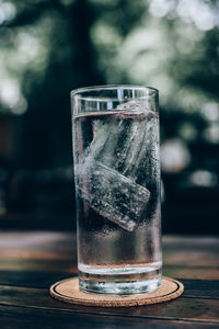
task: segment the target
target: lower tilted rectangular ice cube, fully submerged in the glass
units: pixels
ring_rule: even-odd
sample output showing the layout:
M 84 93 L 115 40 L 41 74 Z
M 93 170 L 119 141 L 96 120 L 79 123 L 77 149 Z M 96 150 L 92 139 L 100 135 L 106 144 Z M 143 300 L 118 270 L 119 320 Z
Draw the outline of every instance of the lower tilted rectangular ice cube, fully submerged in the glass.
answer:
M 103 217 L 128 231 L 136 229 L 150 192 L 99 161 L 81 163 L 77 170 L 82 178 L 79 195 Z

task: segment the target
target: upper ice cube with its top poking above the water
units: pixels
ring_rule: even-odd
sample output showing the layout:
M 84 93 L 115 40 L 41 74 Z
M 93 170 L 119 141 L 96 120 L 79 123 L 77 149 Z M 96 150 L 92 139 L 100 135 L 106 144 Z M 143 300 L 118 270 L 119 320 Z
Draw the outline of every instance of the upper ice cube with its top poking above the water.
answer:
M 129 103 L 123 104 L 124 107 L 127 107 L 127 104 Z M 134 105 L 132 102 L 131 105 Z M 122 105 L 119 109 L 123 109 Z M 136 115 L 136 112 L 130 115 L 130 111 L 127 110 L 117 111 L 107 121 L 99 124 L 99 129 L 95 129 L 94 138 L 85 150 L 85 156 L 135 178 L 138 174 L 137 164 L 146 155 L 150 143 L 148 132 L 151 123 L 158 120 L 157 114 L 143 110 L 145 112 L 141 111 L 140 115 Z

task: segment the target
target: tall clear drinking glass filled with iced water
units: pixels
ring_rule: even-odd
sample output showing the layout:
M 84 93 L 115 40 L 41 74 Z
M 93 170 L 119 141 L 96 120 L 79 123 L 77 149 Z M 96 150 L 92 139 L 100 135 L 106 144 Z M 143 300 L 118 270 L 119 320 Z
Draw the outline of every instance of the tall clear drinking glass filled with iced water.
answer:
M 71 92 L 79 284 L 104 294 L 161 285 L 158 90 Z

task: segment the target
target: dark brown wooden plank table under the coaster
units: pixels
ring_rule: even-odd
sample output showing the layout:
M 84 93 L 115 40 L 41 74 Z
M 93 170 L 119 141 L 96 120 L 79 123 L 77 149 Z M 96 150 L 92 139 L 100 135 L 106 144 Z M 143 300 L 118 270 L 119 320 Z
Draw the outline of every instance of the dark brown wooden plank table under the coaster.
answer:
M 185 293 L 159 305 L 73 306 L 53 299 L 51 283 L 77 273 L 73 234 L 0 234 L 0 328 L 219 328 L 219 239 L 163 238 L 164 274 Z

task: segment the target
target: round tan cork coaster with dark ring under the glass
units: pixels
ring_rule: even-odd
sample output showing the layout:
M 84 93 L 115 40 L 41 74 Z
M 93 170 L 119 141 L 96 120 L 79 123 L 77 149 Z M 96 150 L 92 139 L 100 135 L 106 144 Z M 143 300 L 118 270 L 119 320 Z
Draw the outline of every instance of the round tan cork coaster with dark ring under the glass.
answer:
M 138 306 L 163 303 L 177 298 L 184 292 L 181 282 L 163 276 L 161 286 L 152 293 L 136 295 L 106 295 L 82 292 L 79 279 L 71 277 L 50 286 L 50 295 L 61 302 L 101 307 Z

